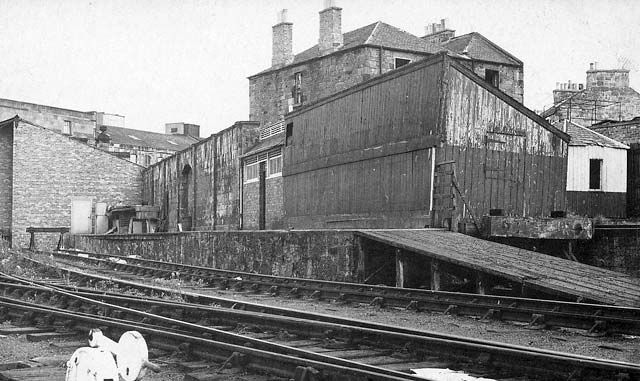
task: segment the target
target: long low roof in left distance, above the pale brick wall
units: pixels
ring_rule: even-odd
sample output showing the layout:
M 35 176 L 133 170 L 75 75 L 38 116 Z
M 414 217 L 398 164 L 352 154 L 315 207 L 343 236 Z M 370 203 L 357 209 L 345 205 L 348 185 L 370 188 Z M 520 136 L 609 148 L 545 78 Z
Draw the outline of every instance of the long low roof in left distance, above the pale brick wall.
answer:
M 111 144 L 126 144 L 169 151 L 182 151 L 191 144 L 200 141 L 187 135 L 167 135 L 123 127 L 107 127 L 106 134 L 111 138 Z

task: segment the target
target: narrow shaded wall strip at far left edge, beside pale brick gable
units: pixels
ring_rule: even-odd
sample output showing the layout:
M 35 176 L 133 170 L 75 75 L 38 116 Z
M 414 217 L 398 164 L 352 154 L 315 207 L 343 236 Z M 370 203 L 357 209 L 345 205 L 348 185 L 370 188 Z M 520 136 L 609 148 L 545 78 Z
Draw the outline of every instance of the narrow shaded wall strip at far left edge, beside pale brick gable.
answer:
M 13 128 L 0 127 L 0 234 L 11 230 Z

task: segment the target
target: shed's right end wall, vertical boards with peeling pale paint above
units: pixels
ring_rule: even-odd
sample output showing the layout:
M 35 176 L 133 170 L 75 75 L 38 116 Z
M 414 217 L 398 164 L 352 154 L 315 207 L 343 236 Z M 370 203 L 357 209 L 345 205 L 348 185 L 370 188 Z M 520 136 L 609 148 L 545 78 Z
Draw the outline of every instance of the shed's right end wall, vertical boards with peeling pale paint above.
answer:
M 436 156 L 436 172 L 452 176 L 460 192 L 436 189 L 457 198 L 436 209 L 451 209 L 457 218 L 478 218 L 490 209 L 524 217 L 564 210 L 563 133 L 464 71 L 453 64 L 447 70 L 446 144 Z M 439 170 L 441 163 L 450 163 L 446 171 Z

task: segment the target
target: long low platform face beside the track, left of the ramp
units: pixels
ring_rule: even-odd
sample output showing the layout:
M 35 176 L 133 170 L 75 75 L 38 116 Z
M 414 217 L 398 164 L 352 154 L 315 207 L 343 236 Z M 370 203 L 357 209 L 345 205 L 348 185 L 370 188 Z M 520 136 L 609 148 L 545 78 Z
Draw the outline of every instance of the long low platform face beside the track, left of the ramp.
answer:
M 363 257 L 352 231 L 226 231 L 76 235 L 79 250 L 277 276 L 357 282 Z

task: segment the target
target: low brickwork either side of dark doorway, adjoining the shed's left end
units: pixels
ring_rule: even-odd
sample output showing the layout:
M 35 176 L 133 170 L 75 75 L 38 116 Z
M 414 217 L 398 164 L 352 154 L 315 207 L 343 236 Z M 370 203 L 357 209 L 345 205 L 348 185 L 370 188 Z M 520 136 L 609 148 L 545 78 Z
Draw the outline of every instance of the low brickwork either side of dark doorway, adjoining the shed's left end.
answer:
M 281 229 L 284 226 L 284 198 L 282 176 L 266 179 L 265 228 Z M 256 230 L 259 226 L 260 183 L 246 183 L 242 189 L 242 228 Z

